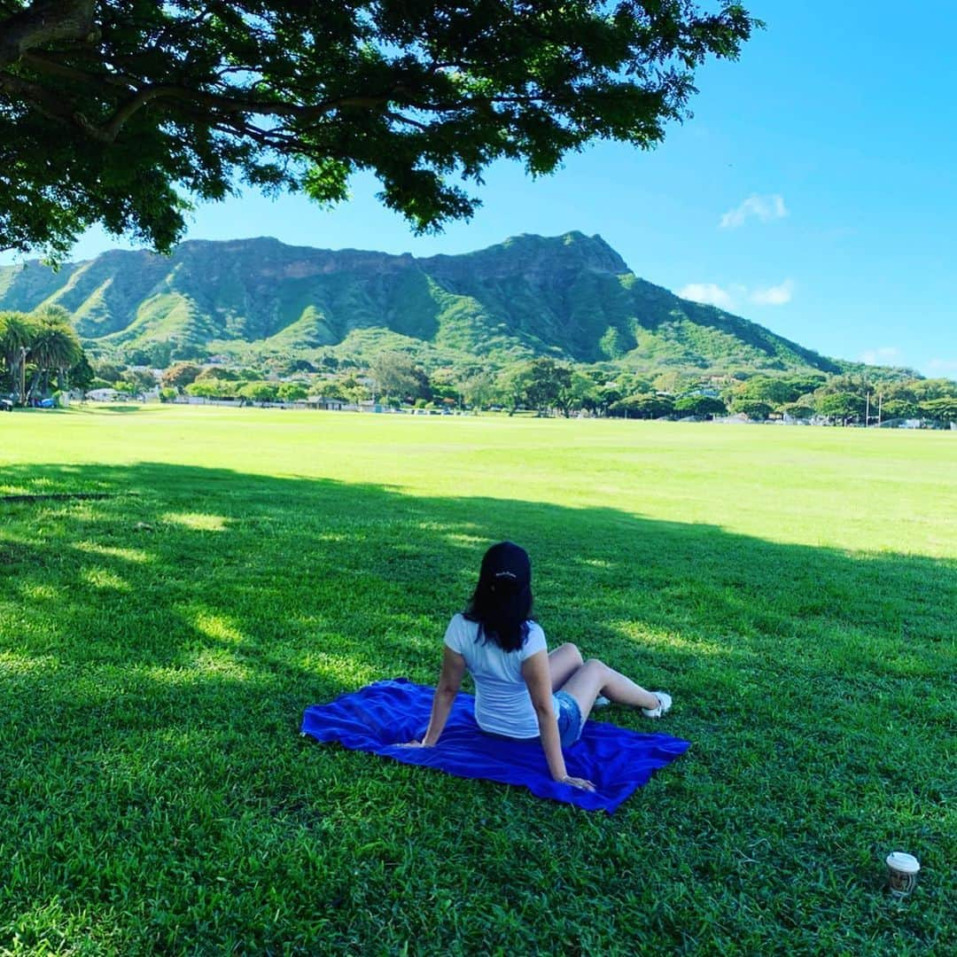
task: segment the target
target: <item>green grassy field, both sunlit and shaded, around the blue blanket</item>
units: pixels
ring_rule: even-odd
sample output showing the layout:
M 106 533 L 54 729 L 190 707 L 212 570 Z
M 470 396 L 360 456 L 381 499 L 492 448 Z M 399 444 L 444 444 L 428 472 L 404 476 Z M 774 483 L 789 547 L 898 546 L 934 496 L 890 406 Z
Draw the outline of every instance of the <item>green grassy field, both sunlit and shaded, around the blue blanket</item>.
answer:
M 957 950 L 957 435 L 118 407 L 0 442 L 0 953 Z M 614 815 L 297 733 L 433 683 L 501 538 L 552 645 L 675 697 L 691 750 Z

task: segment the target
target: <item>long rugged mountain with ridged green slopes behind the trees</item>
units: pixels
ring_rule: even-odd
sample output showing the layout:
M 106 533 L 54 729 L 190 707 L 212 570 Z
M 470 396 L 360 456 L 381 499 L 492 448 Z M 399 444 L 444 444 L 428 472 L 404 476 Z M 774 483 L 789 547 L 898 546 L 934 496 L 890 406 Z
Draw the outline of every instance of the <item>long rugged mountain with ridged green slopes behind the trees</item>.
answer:
M 59 272 L 0 269 L 0 308 L 58 303 L 87 345 L 175 357 L 374 351 L 395 336 L 441 361 L 549 355 L 628 366 L 837 364 L 714 306 L 637 278 L 600 236 L 521 235 L 461 256 L 389 256 L 276 239 L 114 251 Z M 389 335 L 387 335 L 389 333 Z

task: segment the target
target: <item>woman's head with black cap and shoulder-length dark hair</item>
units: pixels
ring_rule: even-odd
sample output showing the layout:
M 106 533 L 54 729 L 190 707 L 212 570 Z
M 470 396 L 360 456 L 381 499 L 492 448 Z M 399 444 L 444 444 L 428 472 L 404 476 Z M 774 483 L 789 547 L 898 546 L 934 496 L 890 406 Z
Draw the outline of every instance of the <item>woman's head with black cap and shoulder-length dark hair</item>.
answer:
M 518 651 L 528 637 L 532 611 L 531 563 L 523 548 L 511 542 L 485 552 L 479 584 L 463 616 L 479 622 L 479 638 L 503 652 Z

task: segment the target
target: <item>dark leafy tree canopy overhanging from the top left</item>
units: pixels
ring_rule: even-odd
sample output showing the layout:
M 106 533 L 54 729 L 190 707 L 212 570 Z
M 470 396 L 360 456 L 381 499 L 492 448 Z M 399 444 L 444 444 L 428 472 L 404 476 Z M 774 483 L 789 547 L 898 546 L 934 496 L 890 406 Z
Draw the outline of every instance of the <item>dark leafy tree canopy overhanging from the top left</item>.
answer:
M 656 145 L 757 26 L 731 0 L 3 3 L 0 247 L 62 256 L 100 223 L 164 251 L 192 199 L 334 203 L 357 170 L 434 230 L 495 160 Z

